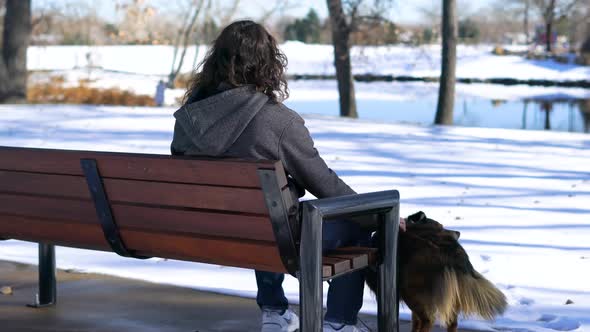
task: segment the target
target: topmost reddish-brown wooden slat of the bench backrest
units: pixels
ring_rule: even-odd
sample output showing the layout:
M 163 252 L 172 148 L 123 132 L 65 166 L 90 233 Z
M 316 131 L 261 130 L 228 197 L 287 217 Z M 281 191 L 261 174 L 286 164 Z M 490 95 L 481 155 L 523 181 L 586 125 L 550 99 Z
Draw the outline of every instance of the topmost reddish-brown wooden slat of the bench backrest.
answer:
M 96 159 L 108 178 L 260 188 L 258 169 L 284 172 L 280 162 L 167 155 L 0 147 L 0 170 L 83 175 L 80 159 Z M 280 177 L 279 185 L 287 184 Z

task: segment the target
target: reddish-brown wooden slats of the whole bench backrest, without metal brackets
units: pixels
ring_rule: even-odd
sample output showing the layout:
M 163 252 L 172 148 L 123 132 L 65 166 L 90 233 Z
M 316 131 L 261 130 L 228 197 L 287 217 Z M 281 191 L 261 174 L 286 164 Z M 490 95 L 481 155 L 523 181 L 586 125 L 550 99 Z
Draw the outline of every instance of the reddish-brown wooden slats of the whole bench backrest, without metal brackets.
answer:
M 80 159 L 96 160 L 130 250 L 285 271 L 258 174 L 287 194 L 273 161 L 0 147 L 0 237 L 110 250 Z

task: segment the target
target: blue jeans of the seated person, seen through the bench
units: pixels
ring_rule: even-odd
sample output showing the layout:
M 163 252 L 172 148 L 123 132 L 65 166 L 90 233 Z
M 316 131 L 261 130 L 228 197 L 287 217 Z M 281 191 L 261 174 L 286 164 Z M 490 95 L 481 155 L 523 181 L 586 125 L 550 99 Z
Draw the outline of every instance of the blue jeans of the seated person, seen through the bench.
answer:
M 328 221 L 323 224 L 322 246 L 324 250 L 343 246 L 370 246 L 370 232 L 358 224 L 345 220 Z M 289 303 L 283 291 L 282 273 L 256 271 L 260 308 L 286 310 Z M 325 320 L 334 323 L 355 325 L 363 306 L 365 288 L 364 270 L 332 279 L 328 289 L 328 310 Z

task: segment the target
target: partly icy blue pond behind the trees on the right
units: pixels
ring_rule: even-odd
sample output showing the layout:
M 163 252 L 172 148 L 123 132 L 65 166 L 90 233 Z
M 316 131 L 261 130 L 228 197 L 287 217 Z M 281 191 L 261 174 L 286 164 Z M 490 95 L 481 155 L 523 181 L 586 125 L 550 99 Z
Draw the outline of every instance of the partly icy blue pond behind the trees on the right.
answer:
M 285 104 L 302 114 L 337 116 L 335 81 L 292 81 Z M 433 123 L 438 85 L 433 83 L 356 83 L 359 118 Z M 454 124 L 470 127 L 590 131 L 590 90 L 457 84 Z

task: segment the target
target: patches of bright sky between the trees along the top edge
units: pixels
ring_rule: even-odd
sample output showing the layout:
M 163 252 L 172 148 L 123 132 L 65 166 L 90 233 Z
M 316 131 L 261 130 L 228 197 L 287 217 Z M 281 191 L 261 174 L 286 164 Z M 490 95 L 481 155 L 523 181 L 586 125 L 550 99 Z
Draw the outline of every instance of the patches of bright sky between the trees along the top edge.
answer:
M 76 3 L 90 3 L 92 6 L 98 9 L 98 13 L 100 16 L 114 20 L 116 17 L 115 12 L 115 4 L 118 2 L 117 0 L 101 0 L 101 1 L 94 1 L 94 0 L 53 0 L 57 3 L 68 4 L 68 5 L 75 5 Z M 175 0 L 146 0 L 148 3 L 152 3 L 156 8 L 166 11 L 166 9 L 173 6 Z M 231 0 L 218 0 L 221 3 L 230 3 Z M 477 9 L 478 7 L 483 7 L 490 4 L 493 0 L 472 0 L 469 1 L 469 10 Z M 43 6 L 43 4 L 48 3 L 51 1 L 47 0 L 33 0 L 34 6 Z M 120 2 L 120 1 L 119 1 Z M 242 0 L 241 8 L 243 8 L 243 12 L 240 15 L 241 17 L 251 17 L 256 18 L 262 12 L 264 12 L 264 8 L 268 8 L 270 1 L 268 0 Z M 394 1 L 394 5 L 392 7 L 390 17 L 394 21 L 401 22 L 401 23 L 411 23 L 420 21 L 423 17 L 420 11 L 420 8 L 432 8 L 436 4 L 439 4 L 442 0 L 397 0 Z M 314 8 L 322 17 L 327 15 L 327 8 L 325 0 L 295 0 L 293 3 L 297 3 L 297 8 L 289 10 L 288 14 L 291 16 L 303 16 L 307 13 L 310 8 Z M 461 10 L 462 5 L 459 6 L 459 10 Z

